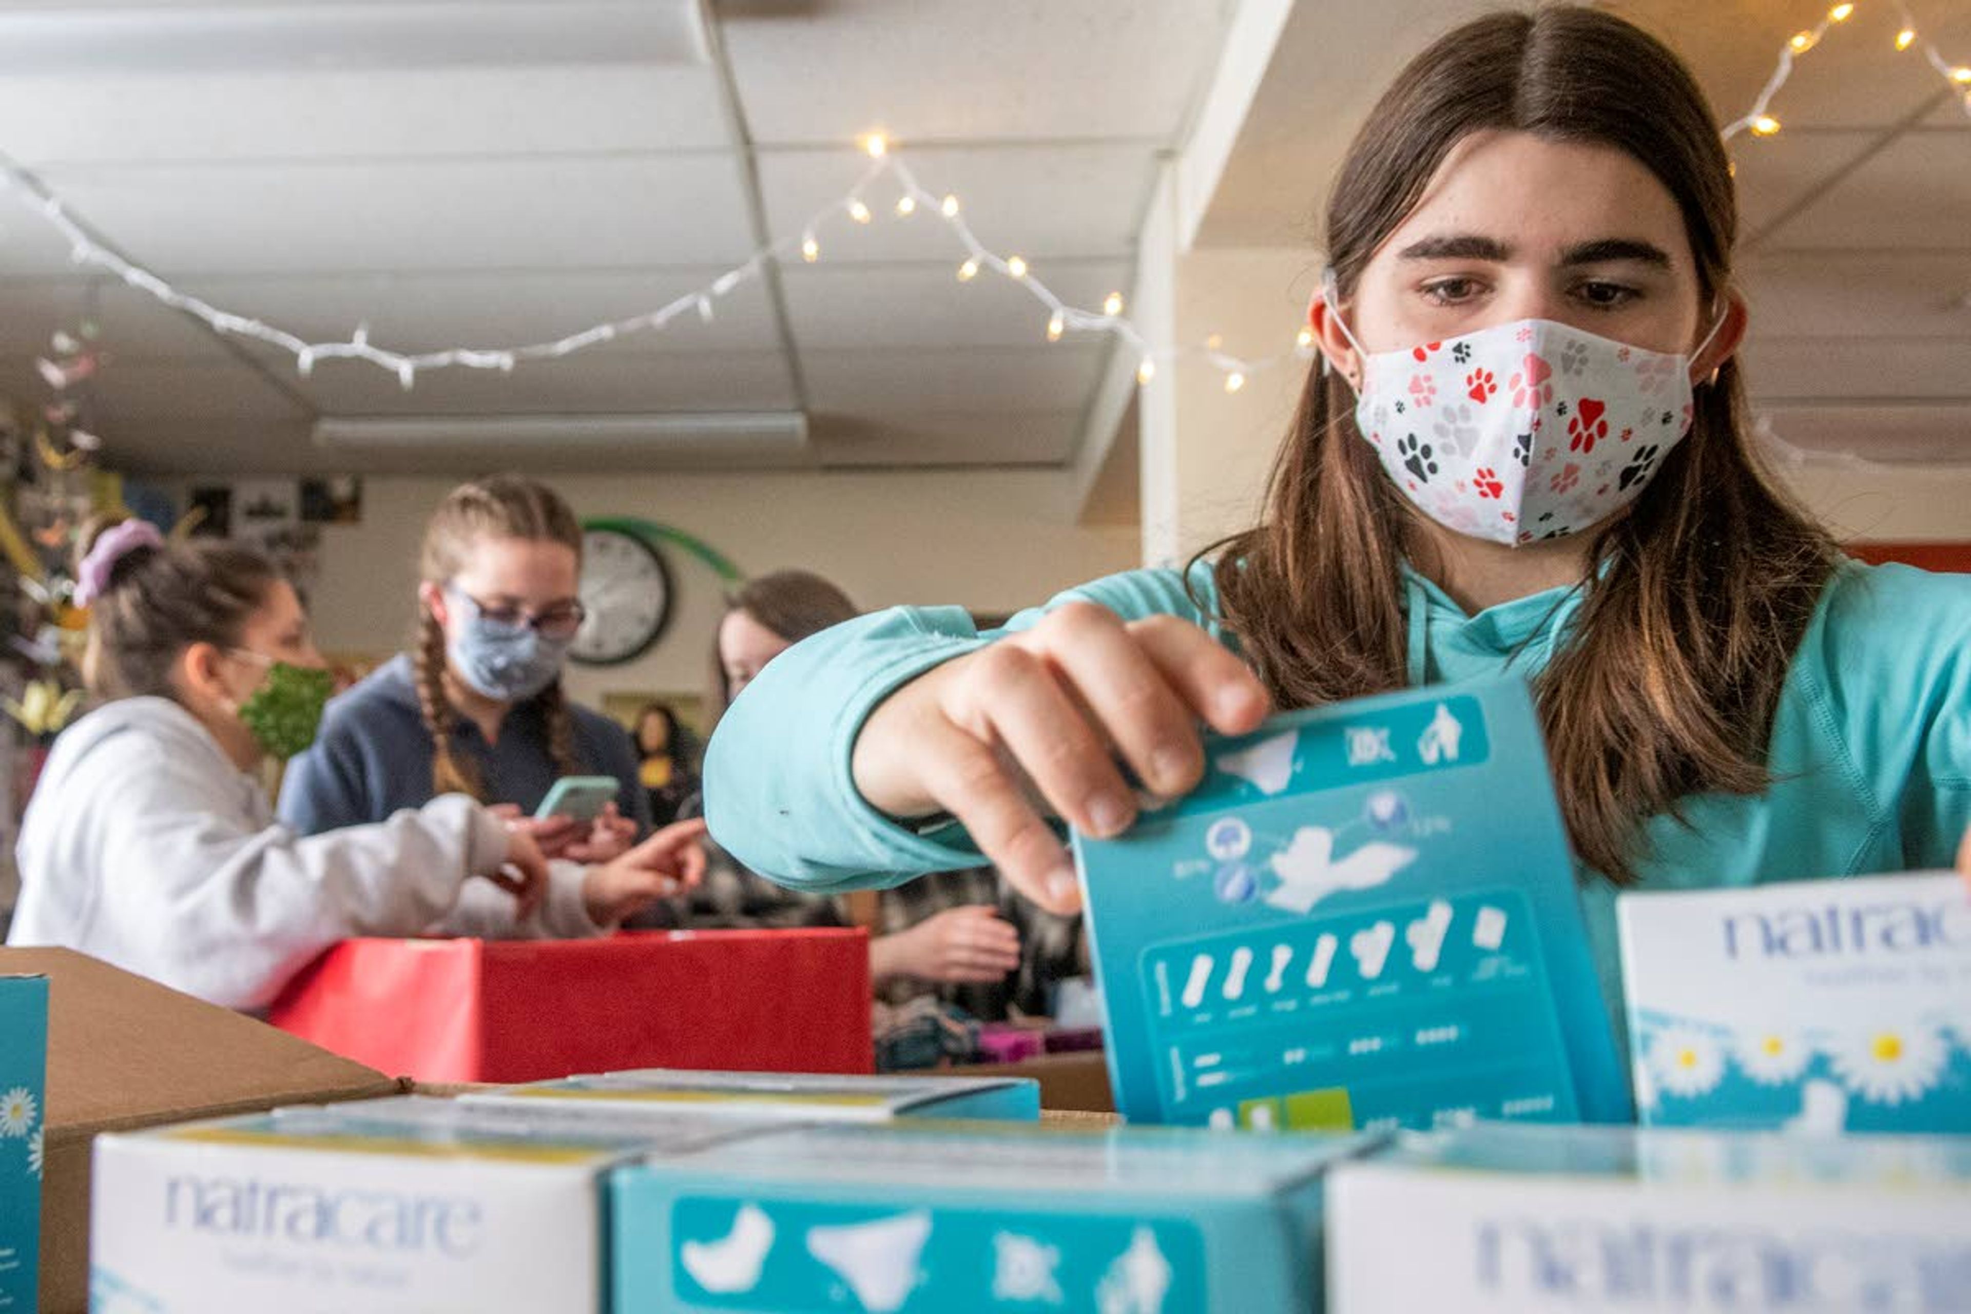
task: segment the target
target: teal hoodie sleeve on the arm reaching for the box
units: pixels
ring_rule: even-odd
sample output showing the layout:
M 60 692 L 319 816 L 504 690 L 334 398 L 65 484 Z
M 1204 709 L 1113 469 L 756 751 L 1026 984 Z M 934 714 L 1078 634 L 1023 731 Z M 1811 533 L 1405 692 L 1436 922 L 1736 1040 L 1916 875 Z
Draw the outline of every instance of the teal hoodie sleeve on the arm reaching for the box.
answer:
M 1192 597 L 1196 593 L 1196 597 Z M 1056 595 L 1005 628 L 980 632 L 960 607 L 893 607 L 806 638 L 745 688 L 706 749 L 706 823 L 733 857 L 781 885 L 836 892 L 887 888 L 986 859 L 956 825 L 920 833 L 871 808 L 850 755 L 869 713 L 932 666 L 1090 601 L 1123 621 L 1175 615 L 1210 624 L 1208 565 L 1127 571 Z

